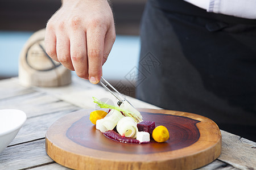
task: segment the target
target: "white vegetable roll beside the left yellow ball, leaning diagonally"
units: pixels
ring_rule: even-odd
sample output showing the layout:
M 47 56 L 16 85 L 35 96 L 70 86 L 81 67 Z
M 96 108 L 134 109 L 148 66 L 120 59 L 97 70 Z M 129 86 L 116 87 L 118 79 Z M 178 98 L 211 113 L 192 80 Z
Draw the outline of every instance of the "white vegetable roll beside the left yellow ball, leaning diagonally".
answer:
M 123 118 L 123 114 L 119 111 L 112 109 L 104 118 L 96 121 L 96 129 L 102 133 L 108 130 L 113 130 L 117 122 Z

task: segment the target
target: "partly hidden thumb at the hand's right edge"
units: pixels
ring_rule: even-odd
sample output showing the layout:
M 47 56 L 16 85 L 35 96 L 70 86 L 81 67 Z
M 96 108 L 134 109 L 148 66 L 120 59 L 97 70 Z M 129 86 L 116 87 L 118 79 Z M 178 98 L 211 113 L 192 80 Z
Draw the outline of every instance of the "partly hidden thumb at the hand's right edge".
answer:
M 112 49 L 114 42 L 115 42 L 115 29 L 113 27 L 109 29 L 109 31 L 106 33 L 106 36 L 105 36 L 102 65 L 104 65 L 104 63 L 108 59 L 109 53 Z

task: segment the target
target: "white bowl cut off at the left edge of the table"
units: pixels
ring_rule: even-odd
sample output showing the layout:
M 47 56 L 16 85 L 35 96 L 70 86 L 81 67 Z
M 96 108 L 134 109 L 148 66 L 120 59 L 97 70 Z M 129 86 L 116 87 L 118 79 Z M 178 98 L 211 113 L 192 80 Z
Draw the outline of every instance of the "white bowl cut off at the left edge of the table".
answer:
M 13 141 L 26 120 L 26 114 L 20 110 L 0 110 L 0 153 Z

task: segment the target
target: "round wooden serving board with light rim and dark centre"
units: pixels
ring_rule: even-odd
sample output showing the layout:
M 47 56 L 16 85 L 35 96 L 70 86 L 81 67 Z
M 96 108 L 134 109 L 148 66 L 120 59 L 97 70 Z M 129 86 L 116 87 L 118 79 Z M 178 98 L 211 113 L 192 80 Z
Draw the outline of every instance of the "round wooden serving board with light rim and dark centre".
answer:
M 120 143 L 105 137 L 89 120 L 93 110 L 69 113 L 46 133 L 46 151 L 73 169 L 195 169 L 217 159 L 221 133 L 209 118 L 186 112 L 139 109 L 143 120 L 166 126 L 164 143 Z

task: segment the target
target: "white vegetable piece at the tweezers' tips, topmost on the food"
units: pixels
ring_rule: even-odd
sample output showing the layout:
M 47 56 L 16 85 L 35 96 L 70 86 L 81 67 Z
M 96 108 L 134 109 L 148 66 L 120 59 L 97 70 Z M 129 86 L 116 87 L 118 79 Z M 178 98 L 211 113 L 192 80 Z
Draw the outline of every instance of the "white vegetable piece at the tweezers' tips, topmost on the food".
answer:
M 123 101 L 123 103 L 120 105 L 120 108 L 130 112 L 124 112 L 125 116 L 130 116 L 137 123 L 142 122 L 141 113 L 137 111 L 137 109 L 135 109 L 133 106 L 131 106 L 127 101 Z

